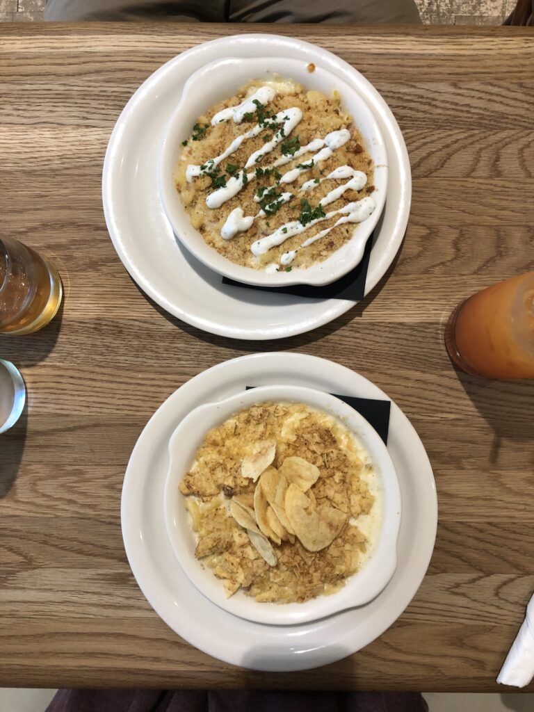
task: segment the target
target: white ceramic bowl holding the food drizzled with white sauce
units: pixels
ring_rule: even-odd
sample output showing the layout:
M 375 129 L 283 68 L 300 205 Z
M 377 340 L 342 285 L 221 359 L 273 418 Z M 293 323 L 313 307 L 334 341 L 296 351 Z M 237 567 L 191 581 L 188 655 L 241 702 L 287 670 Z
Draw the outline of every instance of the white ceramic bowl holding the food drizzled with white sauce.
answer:
M 311 60 L 313 57 L 310 57 Z M 317 61 L 313 73 L 308 72 L 307 67 L 308 62 L 283 57 L 226 58 L 211 62 L 189 77 L 177 108 L 167 125 L 157 171 L 159 196 L 165 214 L 174 234 L 197 259 L 219 274 L 236 281 L 261 286 L 329 284 L 360 263 L 367 237 L 375 228 L 384 207 L 387 190 L 387 152 L 375 116 L 360 95 L 345 81 L 324 68 L 320 61 Z M 274 75 L 293 79 L 307 89 L 320 90 L 326 95 L 330 95 L 333 89 L 340 92 L 342 106 L 352 115 L 355 126 L 360 130 L 375 164 L 376 189 L 372 197 L 377 206 L 367 220 L 355 226 L 352 239 L 325 261 L 308 269 L 294 267 L 290 272 L 281 270 L 266 273 L 236 265 L 204 242 L 199 231 L 194 229 L 189 221 L 189 216 L 174 186 L 173 175 L 182 152 L 182 141 L 191 135 L 192 126 L 199 115 L 219 101 L 233 96 L 250 80 L 269 79 Z

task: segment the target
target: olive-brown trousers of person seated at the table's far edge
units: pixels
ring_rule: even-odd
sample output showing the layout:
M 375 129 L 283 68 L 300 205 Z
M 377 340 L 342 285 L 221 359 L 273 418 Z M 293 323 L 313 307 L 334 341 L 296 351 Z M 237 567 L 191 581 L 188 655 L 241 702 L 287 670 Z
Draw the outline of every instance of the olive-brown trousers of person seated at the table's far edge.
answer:
M 414 0 L 47 0 L 53 22 L 421 23 Z

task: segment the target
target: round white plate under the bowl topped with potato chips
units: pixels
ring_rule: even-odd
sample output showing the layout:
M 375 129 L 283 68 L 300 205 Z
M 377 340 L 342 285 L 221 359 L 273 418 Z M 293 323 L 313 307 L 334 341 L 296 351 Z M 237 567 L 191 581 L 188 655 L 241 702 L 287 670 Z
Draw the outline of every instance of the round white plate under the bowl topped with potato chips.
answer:
M 174 556 L 163 516 L 168 445 L 179 422 L 197 406 L 246 386 L 291 384 L 326 392 L 387 399 L 377 386 L 333 362 L 304 354 L 253 354 L 197 375 L 157 409 L 130 456 L 122 488 L 122 538 L 140 589 L 164 622 L 200 650 L 225 662 L 264 671 L 326 665 L 360 650 L 399 617 L 429 565 L 437 526 L 434 476 L 424 446 L 392 402 L 387 449 L 397 470 L 402 520 L 399 562 L 387 587 L 369 604 L 320 621 L 269 626 L 233 616 L 198 590 Z

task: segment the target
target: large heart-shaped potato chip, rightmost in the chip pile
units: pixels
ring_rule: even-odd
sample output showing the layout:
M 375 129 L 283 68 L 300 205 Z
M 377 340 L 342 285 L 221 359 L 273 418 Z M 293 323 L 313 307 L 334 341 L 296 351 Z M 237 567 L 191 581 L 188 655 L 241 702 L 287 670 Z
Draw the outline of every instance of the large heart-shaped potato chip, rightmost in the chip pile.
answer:
M 286 492 L 286 514 L 295 535 L 308 551 L 325 549 L 347 521 L 347 515 L 330 504 L 316 506 L 295 483 Z

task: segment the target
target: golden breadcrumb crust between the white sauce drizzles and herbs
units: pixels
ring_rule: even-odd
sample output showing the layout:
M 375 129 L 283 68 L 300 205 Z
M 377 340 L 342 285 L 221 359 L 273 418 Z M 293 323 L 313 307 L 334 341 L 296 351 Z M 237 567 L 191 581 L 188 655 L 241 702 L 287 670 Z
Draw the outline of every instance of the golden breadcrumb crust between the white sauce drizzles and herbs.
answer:
M 276 178 L 271 176 L 268 178 L 262 177 L 253 179 L 239 194 L 229 201 L 226 201 L 220 208 L 209 209 L 206 206 L 206 196 L 211 192 L 211 179 L 204 175 L 195 178 L 189 183 L 186 178 L 186 169 L 188 164 L 205 164 L 210 158 L 220 155 L 237 136 L 251 129 L 251 127 L 256 124 L 256 120 L 242 122 L 241 124 L 226 121 L 212 127 L 210 121 L 211 117 L 221 109 L 241 103 L 241 101 L 244 100 L 247 95 L 250 95 L 254 88 L 258 88 L 259 85 L 261 85 L 261 82 L 258 81 L 249 83 L 241 88 L 236 96 L 215 105 L 206 112 L 206 115 L 199 117 L 199 124 L 208 125 L 208 128 L 206 132 L 199 137 L 199 140 L 189 140 L 187 147 L 185 147 L 182 152 L 174 175 L 177 190 L 184 202 L 192 225 L 199 230 L 206 244 L 216 249 L 219 254 L 231 262 L 256 269 L 264 268 L 268 263 L 279 263 L 280 257 L 284 252 L 298 248 L 303 242 L 303 239 L 307 239 L 317 234 L 320 230 L 333 226 L 337 217 L 339 217 L 336 216 L 328 221 L 322 221 L 320 224 L 305 231 L 305 238 L 303 238 L 302 235 L 293 236 L 281 246 L 269 250 L 268 253 L 261 256 L 261 258 L 256 258 L 251 252 L 251 244 L 257 239 L 273 233 L 273 231 L 284 223 L 297 219 L 300 213 L 301 198 L 307 199 L 310 204 L 315 207 L 329 190 L 340 184 L 339 182 L 328 180 L 318 185 L 318 187 L 311 192 L 298 192 L 298 189 L 303 183 L 311 179 L 324 178 L 333 169 L 341 165 L 349 165 L 367 174 L 367 185 L 372 186 L 373 181 L 372 161 L 367 150 L 363 147 L 364 141 L 362 140 L 362 136 L 354 127 L 352 117 L 342 110 L 340 97 L 337 92 L 333 92 L 333 95 L 326 97 L 318 91 L 306 91 L 300 87 L 300 85 L 295 84 L 293 93 L 277 94 L 273 102 L 268 105 L 268 110 L 273 113 L 292 107 L 298 107 L 303 110 L 303 120 L 295 127 L 290 135 L 291 137 L 298 136 L 301 146 L 306 145 L 315 138 L 324 137 L 330 131 L 343 128 L 348 128 L 352 137 L 347 144 L 335 151 L 333 157 L 320 162 L 320 164 L 313 167 L 313 169 L 301 174 L 294 183 L 285 184 L 281 187 L 283 191 L 295 194 L 295 198 L 284 205 L 275 215 L 258 218 L 248 231 L 238 233 L 231 240 L 224 240 L 221 237 L 221 228 L 229 213 L 233 209 L 241 207 L 244 209 L 245 215 L 255 215 L 258 212 L 259 206 L 258 203 L 253 200 L 254 194 L 261 186 L 276 186 Z M 226 173 L 228 164 L 236 165 L 239 167 L 239 171 L 241 171 L 248 156 L 263 146 L 263 137 L 272 135 L 273 131 L 266 129 L 257 137 L 246 140 L 234 154 L 224 159 L 221 163 L 221 174 L 226 174 L 226 178 L 229 178 L 229 174 Z M 278 170 L 284 173 L 294 168 L 298 163 L 307 162 L 311 155 L 311 153 L 302 155 L 290 163 L 283 165 L 283 167 L 280 167 Z M 258 163 L 258 167 L 268 167 L 280 156 L 281 148 L 277 147 L 271 154 Z M 249 168 L 248 172 L 253 172 L 253 169 Z M 359 200 L 367 194 L 368 190 L 365 187 L 360 192 L 349 190 L 345 193 L 344 197 L 329 204 L 328 210 L 340 209 L 347 204 L 347 202 Z M 337 226 L 325 239 L 320 239 L 315 244 L 300 250 L 293 262 L 293 266 L 306 268 L 323 261 L 352 237 L 354 229 L 355 226 L 353 224 Z

